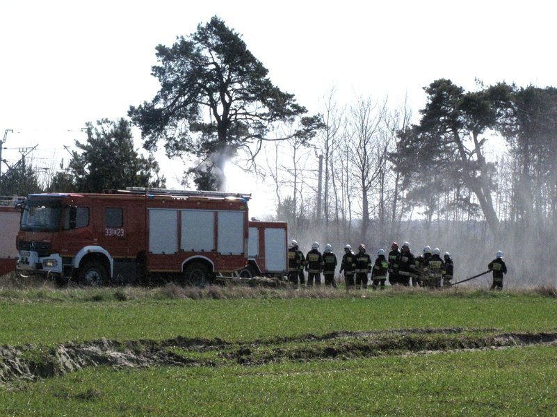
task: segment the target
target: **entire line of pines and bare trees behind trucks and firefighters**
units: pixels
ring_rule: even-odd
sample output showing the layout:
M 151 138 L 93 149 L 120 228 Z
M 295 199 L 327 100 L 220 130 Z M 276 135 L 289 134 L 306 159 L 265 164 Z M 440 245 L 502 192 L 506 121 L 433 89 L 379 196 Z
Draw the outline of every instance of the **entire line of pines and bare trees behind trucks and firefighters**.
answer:
M 322 113 L 307 115 L 216 16 L 156 47 L 156 57 L 161 89 L 130 106 L 131 122 L 87 124 L 67 170 L 41 184 L 22 163 L 0 179 L 0 194 L 164 186 L 154 158 L 134 149 L 133 123 L 147 151 L 162 142 L 168 156 L 193 164 L 184 183 L 222 190 L 228 160 L 266 177 L 275 218 L 302 244 L 410 240 L 414 250 L 457 252 L 461 264 L 487 264 L 502 249 L 519 260 L 517 279 L 555 284 L 549 266 L 540 270 L 540 246 L 557 243 L 555 88 L 478 81 L 466 91 L 438 79 L 424 88 L 417 122 L 407 104 L 340 105 L 332 90 Z M 10 188 L 21 179 L 29 181 Z

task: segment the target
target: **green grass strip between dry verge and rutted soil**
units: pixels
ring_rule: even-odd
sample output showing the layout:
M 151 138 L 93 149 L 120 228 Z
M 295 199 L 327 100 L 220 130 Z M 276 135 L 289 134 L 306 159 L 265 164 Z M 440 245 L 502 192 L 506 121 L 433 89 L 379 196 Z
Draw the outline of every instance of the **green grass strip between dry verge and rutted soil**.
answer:
M 84 294 L 87 291 L 95 293 L 83 290 Z M 53 291 L 58 295 L 49 297 L 4 297 L 0 343 L 54 345 L 103 337 L 124 341 L 175 336 L 239 341 L 414 327 L 557 330 L 557 299 L 537 293 L 367 291 L 327 297 L 323 291 L 317 298 L 158 300 L 149 295 L 113 301 L 108 291 L 102 297 L 67 297 L 64 291 Z

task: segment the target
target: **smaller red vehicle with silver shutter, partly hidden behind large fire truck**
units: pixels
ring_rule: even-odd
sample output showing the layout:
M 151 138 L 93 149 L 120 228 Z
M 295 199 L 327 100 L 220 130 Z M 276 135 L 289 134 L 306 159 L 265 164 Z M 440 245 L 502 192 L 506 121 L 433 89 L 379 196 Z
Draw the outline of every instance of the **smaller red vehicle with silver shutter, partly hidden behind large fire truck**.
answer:
M 249 222 L 248 267 L 243 277 L 284 277 L 288 271 L 288 223 Z

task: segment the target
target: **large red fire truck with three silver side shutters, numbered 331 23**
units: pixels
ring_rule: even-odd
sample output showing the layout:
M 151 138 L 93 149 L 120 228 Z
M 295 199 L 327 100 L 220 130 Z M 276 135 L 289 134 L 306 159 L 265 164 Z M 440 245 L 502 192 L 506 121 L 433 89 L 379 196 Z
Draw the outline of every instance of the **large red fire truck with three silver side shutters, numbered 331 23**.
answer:
M 29 195 L 17 272 L 86 285 L 156 275 L 202 285 L 247 264 L 249 199 L 161 188 Z

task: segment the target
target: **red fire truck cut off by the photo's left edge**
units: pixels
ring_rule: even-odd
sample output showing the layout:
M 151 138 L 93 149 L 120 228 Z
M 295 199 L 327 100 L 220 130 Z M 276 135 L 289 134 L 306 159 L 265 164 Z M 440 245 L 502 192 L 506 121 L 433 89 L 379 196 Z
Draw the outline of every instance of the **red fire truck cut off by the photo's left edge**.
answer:
M 2 203 L 5 201 L 2 200 Z M 17 249 L 15 247 L 15 236 L 19 229 L 19 210 L 15 208 L 15 201 L 6 201 L 0 205 L 0 277 L 13 272 L 17 261 Z

